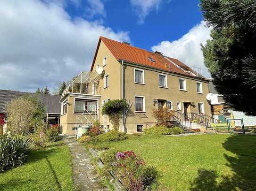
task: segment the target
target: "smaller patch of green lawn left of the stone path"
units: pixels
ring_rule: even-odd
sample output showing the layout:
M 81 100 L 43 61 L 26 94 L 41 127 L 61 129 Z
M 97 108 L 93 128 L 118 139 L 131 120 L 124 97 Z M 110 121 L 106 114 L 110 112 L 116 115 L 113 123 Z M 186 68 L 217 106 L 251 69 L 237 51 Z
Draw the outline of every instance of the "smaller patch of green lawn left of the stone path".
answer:
M 45 150 L 33 150 L 25 165 L 0 174 L 0 190 L 72 191 L 71 158 L 67 145 L 57 142 Z

